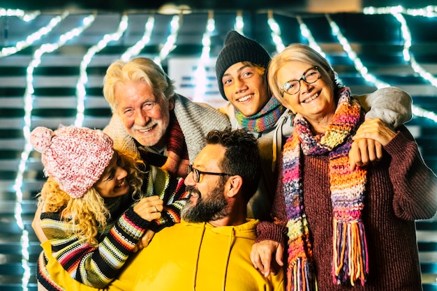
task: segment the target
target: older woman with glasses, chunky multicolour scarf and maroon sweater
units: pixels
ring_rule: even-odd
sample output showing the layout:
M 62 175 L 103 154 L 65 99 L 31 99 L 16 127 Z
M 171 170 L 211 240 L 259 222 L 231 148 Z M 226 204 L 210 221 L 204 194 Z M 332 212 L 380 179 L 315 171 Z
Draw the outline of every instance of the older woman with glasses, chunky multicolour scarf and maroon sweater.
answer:
M 296 114 L 295 130 L 281 153 L 274 223 L 258 225 L 253 265 L 267 275 L 285 257 L 288 290 L 421 290 L 415 220 L 436 213 L 437 178 L 413 136 L 364 121 L 350 89 L 306 45 L 277 54 L 268 80 Z M 350 165 L 360 138 L 380 144 L 379 161 Z

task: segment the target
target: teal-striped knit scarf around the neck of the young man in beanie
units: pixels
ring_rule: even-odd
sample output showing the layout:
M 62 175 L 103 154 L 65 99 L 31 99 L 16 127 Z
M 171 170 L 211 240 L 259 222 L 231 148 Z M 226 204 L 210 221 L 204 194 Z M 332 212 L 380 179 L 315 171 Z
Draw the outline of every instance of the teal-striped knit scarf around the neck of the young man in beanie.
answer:
M 279 117 L 281 117 L 286 110 L 287 108 L 283 107 L 281 103 L 272 96 L 269 102 L 267 102 L 267 104 L 262 107 L 257 114 L 246 117 L 241 111 L 235 109 L 235 118 L 243 128 L 246 128 L 246 130 L 255 133 L 262 133 L 265 130 L 273 128 L 279 120 Z

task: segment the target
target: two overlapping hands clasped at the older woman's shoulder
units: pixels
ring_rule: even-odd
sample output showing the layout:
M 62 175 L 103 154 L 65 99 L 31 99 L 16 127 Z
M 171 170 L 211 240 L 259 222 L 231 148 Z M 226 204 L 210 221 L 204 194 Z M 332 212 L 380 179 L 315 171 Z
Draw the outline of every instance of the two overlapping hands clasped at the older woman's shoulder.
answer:
M 349 151 L 350 170 L 383 158 L 383 147 L 396 133 L 380 119 L 367 119 L 358 128 Z

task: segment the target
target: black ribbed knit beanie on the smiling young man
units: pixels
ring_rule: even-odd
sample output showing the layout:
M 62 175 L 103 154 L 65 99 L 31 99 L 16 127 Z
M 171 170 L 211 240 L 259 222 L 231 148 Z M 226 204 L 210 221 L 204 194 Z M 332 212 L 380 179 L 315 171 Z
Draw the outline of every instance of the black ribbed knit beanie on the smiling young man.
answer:
M 226 70 L 240 61 L 250 61 L 252 64 L 267 68 L 270 62 L 269 53 L 255 40 L 251 40 L 239 34 L 237 31 L 229 31 L 223 43 L 223 49 L 218 54 L 216 61 L 216 76 L 218 90 L 221 96 L 228 100 L 223 91 L 221 78 Z

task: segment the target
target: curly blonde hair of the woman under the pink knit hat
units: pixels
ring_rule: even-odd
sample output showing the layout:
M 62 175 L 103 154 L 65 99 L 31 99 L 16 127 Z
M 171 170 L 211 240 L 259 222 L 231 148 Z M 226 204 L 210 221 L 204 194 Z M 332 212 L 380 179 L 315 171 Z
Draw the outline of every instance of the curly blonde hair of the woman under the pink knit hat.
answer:
M 128 154 L 117 151 L 124 161 L 124 169 L 128 172 L 128 183 L 131 186 L 133 200 L 142 198 L 142 170 L 144 163 L 135 160 Z M 97 246 L 99 231 L 105 229 L 110 218 L 110 211 L 105 200 L 92 186 L 80 198 L 73 198 L 61 190 L 57 181 L 49 177 L 45 181 L 38 196 L 38 203 L 43 203 L 43 212 L 61 211 L 61 219 L 72 227 L 67 233 L 75 234 L 86 240 L 91 246 Z

